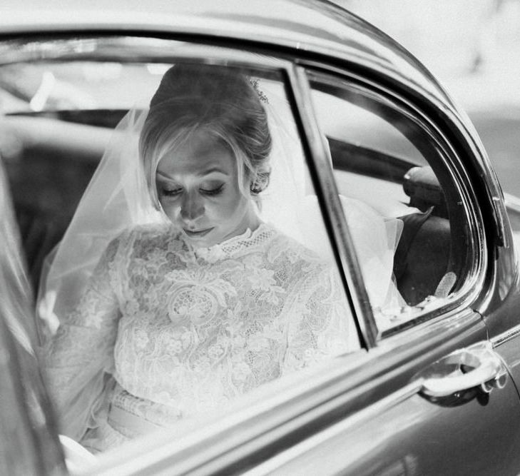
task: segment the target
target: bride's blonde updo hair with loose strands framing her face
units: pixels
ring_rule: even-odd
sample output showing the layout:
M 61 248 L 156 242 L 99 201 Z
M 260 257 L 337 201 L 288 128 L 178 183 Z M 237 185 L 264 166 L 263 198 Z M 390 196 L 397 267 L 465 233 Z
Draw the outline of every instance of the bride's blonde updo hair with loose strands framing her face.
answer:
M 253 196 L 269 184 L 272 139 L 267 114 L 248 78 L 225 66 L 176 64 L 166 71 L 153 95 L 139 149 L 151 198 L 160 208 L 156 188 L 158 163 L 196 131 L 227 146 L 237 159 L 240 190 Z M 247 174 L 250 190 L 240 177 Z

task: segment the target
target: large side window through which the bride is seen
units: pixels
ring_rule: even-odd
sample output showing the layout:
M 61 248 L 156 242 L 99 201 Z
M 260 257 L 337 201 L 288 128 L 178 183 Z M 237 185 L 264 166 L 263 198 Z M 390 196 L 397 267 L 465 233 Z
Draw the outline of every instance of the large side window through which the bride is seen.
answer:
M 0 77 L 21 101 L 0 150 L 61 432 L 108 450 L 360 349 L 282 74 L 192 59 Z

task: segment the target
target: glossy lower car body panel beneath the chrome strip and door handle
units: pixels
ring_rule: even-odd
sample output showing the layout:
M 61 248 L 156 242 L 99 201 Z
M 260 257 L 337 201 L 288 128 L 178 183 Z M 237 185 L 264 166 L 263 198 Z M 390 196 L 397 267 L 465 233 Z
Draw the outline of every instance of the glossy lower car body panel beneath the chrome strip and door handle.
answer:
M 368 407 L 366 414 L 360 412 L 315 435 L 255 474 L 295 474 L 302 467 L 320 475 L 513 474 L 519 465 L 518 435 L 499 427 L 511 425 L 504 414 L 514 415 L 518 407 L 514 395 L 493 399 L 472 400 L 461 410 L 435 407 L 415 393 L 389 395 L 377 407 Z M 481 418 L 483 410 L 497 423 L 492 429 Z M 471 425 L 457 425 L 461 412 Z M 516 423 L 514 418 L 512 424 Z M 495 445 L 504 451 L 498 454 Z

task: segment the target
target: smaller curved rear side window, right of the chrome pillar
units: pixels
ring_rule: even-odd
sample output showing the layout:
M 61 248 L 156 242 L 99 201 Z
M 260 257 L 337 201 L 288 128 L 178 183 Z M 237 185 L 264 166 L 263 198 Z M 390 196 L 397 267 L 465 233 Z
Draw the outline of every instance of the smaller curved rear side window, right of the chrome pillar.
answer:
M 468 218 L 449 151 L 403 101 L 309 76 L 378 328 L 410 325 L 453 298 L 468 269 Z

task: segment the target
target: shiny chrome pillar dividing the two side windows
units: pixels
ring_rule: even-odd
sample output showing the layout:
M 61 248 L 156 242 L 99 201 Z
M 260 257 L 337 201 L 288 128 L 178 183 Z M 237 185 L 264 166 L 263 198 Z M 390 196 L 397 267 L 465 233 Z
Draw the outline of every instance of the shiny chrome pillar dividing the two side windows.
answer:
M 295 95 L 297 108 L 300 111 L 305 137 L 309 141 L 310 153 L 314 158 L 315 177 L 317 178 L 315 188 L 321 191 L 325 202 L 326 212 L 322 214 L 324 218 L 330 218 L 330 223 L 326 224 L 330 226 L 330 231 L 332 231 L 332 242 L 336 245 L 337 255 L 341 263 L 340 269 L 343 270 L 342 278 L 348 285 L 347 292 L 350 294 L 352 306 L 358 316 L 356 321 L 360 325 L 362 337 L 368 348 L 374 348 L 377 342 L 377 325 L 367 290 L 364 287 L 361 267 L 347 227 L 345 213 L 340 203 L 330 159 L 326 152 L 327 146 L 316 121 L 307 72 L 301 66 L 295 66 L 289 76 L 289 81 L 292 86 L 292 93 Z

